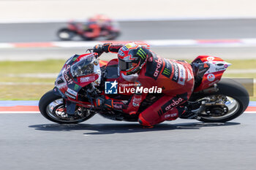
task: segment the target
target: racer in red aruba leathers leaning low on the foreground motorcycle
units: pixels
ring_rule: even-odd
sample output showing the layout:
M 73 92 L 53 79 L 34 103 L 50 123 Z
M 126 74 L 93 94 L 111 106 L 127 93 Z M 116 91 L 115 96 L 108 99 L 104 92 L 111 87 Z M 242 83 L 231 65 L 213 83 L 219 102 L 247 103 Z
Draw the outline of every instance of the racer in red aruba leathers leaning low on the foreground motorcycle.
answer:
M 113 99 L 97 98 L 97 106 L 117 109 L 129 115 L 139 114 L 138 122 L 152 127 L 165 120 L 176 120 L 186 111 L 184 104 L 192 94 L 194 77 L 192 67 L 186 61 L 161 58 L 149 50 L 145 43 L 132 42 L 127 45 L 95 45 L 94 52 L 118 53 L 118 68 L 124 80 L 139 82 L 143 87 L 160 87 L 162 94 L 150 107 L 138 112 L 148 93 L 134 93 L 128 103 Z

